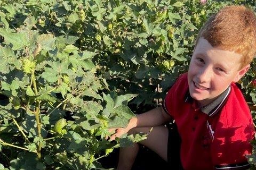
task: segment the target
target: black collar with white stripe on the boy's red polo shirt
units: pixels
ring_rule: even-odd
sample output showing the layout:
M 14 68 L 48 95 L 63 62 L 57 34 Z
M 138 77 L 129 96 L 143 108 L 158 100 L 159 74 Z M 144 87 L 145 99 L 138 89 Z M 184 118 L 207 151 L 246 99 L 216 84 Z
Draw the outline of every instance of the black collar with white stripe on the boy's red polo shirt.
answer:
M 225 104 L 225 101 L 228 98 L 228 95 L 230 94 L 231 88 L 230 86 L 220 94 L 218 98 L 213 100 L 211 103 L 203 106 L 200 108 L 200 110 L 209 115 L 213 116 L 215 113 L 218 113 L 218 111 L 222 108 L 222 106 Z M 185 102 L 193 103 L 194 99 L 190 96 L 189 90 L 187 91 L 185 95 Z

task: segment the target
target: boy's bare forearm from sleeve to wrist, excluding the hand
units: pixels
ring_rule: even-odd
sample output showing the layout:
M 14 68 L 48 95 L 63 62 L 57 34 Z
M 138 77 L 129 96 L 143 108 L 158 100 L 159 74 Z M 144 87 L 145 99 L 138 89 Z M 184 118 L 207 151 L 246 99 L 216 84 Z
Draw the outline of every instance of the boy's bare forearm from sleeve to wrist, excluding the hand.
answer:
M 162 125 L 171 120 L 171 116 L 167 115 L 162 107 L 157 107 L 148 112 L 137 115 L 131 118 L 127 128 L 132 129 L 135 127 L 151 127 Z

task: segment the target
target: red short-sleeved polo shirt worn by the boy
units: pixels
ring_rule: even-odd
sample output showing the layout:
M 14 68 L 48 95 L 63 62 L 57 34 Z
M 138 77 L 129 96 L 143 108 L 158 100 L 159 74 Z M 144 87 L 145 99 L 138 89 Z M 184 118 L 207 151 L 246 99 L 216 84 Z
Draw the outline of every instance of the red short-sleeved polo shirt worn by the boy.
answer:
M 196 108 L 187 73 L 169 90 L 163 107 L 177 124 L 184 169 L 247 169 L 254 126 L 250 110 L 235 83 L 217 99 Z

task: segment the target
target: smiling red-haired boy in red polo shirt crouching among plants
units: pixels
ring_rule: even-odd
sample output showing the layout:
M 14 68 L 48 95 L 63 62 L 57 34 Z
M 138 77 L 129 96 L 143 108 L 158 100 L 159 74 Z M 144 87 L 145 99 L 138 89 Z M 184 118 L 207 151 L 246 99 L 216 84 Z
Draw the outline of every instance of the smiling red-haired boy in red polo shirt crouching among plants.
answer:
M 149 133 L 142 145 L 170 163 L 172 169 L 248 169 L 246 155 L 254 127 L 236 87 L 256 50 L 256 19 L 244 6 L 227 6 L 205 23 L 198 35 L 188 73 L 180 75 L 162 107 L 139 114 L 124 133 Z M 172 128 L 164 123 L 175 121 Z M 177 126 L 176 126 L 177 125 Z M 138 143 L 121 148 L 117 169 L 131 169 Z

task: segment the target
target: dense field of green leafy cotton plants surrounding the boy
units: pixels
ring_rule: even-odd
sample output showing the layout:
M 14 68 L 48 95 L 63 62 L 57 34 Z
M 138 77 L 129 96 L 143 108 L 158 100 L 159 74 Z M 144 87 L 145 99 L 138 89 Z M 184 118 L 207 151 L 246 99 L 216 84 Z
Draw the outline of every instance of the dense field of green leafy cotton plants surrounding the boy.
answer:
M 108 128 L 161 105 L 203 23 L 229 4 L 256 9 L 249 0 L 0 1 L 0 169 L 107 169 L 113 149 L 146 138 L 110 142 Z M 239 87 L 255 117 L 251 66 Z

